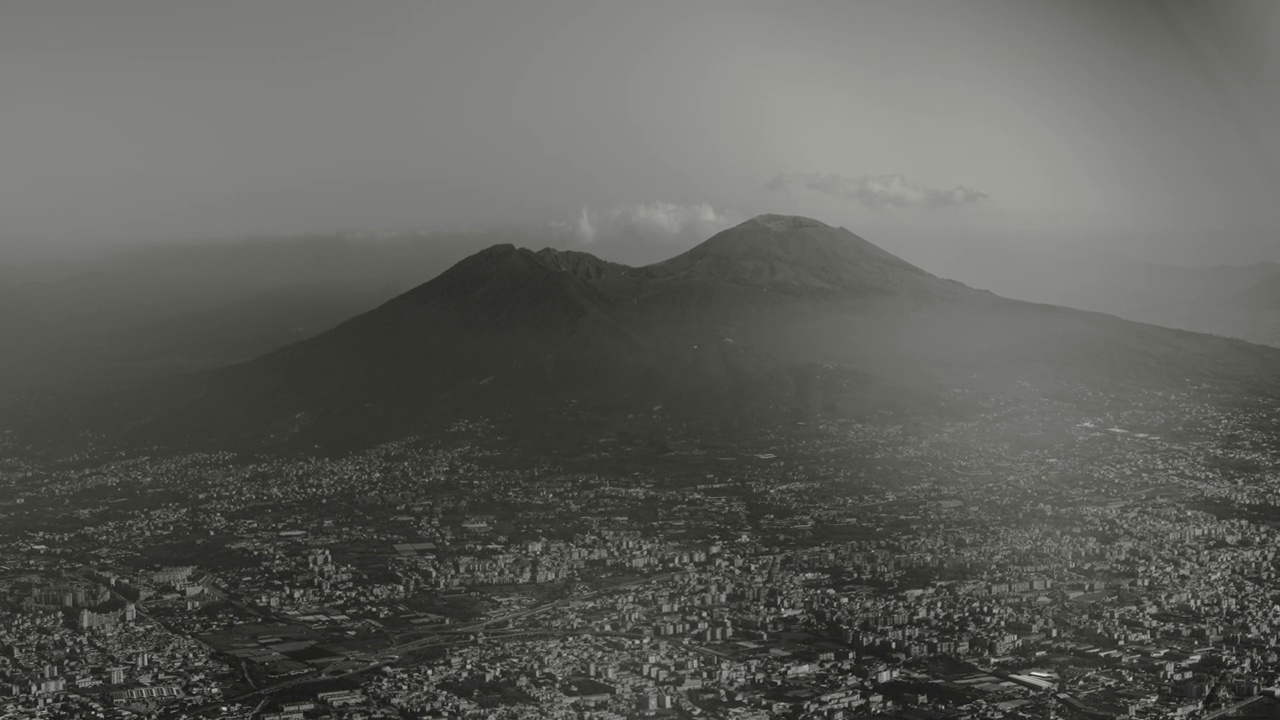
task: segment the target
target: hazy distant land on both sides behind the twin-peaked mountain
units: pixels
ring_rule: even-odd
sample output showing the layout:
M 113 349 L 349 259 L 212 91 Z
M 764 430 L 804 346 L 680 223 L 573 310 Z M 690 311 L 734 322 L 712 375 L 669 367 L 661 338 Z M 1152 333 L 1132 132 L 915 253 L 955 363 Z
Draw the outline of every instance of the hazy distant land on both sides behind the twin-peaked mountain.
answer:
M 93 263 L 0 266 L 0 404 L 33 391 L 242 363 L 330 329 L 490 245 L 545 242 L 518 228 L 344 234 L 152 246 Z M 919 256 L 922 268 L 1006 297 L 1280 346 L 1274 264 L 1179 268 L 980 243 L 902 250 Z M 628 250 L 652 259 L 659 251 Z

